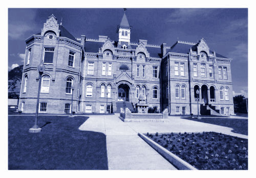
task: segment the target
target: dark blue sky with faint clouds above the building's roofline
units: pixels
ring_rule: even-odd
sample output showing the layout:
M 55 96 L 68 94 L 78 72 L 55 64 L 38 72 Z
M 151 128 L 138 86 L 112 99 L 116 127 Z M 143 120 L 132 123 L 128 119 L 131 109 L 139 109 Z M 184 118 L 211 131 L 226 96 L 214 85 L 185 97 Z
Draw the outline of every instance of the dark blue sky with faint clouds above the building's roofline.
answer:
M 98 35 L 117 40 L 117 25 L 123 16 L 122 8 L 115 9 L 8 9 L 8 70 L 24 63 L 25 39 L 41 32 L 47 17 L 54 14 L 58 23 L 74 37 Z M 248 96 L 248 10 L 234 8 L 149 9 L 128 8 L 126 16 L 131 41 L 147 39 L 149 44 L 167 43 L 177 39 L 197 42 L 202 37 L 211 51 L 232 58 L 233 95 Z

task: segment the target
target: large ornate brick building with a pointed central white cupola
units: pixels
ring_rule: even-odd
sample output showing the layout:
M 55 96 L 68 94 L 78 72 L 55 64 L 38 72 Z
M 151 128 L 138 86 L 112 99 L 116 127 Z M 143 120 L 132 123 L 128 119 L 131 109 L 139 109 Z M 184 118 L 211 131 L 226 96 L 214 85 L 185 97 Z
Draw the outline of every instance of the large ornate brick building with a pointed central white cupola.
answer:
M 201 114 L 234 113 L 232 59 L 210 51 L 204 39 L 173 46 L 131 42 L 131 29 L 124 12 L 118 39 L 75 38 L 48 17 L 41 32 L 26 39 L 19 109 L 35 113 L 43 62 L 39 113 L 70 113 L 72 93 L 76 113 L 119 112 L 124 104 L 132 110 L 140 94 L 160 112 L 168 107 L 170 114 L 195 115 L 199 96 Z

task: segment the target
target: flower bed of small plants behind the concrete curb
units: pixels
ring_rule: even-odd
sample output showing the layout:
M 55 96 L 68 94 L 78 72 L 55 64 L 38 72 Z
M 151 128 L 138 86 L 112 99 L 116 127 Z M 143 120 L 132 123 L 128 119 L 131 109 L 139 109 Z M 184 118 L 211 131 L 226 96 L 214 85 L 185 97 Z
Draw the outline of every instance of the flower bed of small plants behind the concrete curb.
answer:
M 197 169 L 248 169 L 247 139 L 216 132 L 146 136 Z

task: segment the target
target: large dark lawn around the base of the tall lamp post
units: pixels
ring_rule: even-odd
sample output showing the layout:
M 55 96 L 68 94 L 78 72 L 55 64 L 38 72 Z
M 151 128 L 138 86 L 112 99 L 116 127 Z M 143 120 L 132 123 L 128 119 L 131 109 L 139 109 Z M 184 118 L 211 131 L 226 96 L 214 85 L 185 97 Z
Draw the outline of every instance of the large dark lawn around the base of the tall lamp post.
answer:
M 39 116 L 41 132 L 29 133 L 33 116 L 9 116 L 9 169 L 108 169 L 105 135 L 78 129 L 87 119 L 84 116 Z

